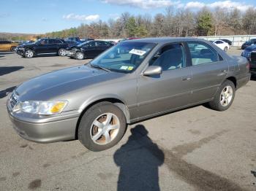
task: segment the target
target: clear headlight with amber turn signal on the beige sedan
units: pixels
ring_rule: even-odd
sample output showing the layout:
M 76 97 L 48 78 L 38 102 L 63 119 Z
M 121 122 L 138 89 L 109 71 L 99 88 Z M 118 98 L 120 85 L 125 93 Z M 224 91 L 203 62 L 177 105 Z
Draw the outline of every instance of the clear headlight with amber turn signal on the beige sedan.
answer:
M 67 101 L 20 101 L 12 111 L 42 115 L 60 114 L 65 106 L 67 106 Z

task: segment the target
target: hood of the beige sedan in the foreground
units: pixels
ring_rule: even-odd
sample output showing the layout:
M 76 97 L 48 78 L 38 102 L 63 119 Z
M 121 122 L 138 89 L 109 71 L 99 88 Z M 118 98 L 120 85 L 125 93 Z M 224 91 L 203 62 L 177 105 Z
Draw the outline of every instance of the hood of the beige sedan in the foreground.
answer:
M 76 66 L 30 79 L 19 85 L 15 91 L 20 101 L 49 101 L 123 75 L 91 66 Z

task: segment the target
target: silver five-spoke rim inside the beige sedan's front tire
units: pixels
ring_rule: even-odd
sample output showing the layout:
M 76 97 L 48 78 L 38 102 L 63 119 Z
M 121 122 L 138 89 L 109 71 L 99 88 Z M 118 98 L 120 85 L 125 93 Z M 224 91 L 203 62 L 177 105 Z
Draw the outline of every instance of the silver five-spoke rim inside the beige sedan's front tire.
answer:
M 108 144 L 116 138 L 119 129 L 120 122 L 116 114 L 101 114 L 91 125 L 91 140 L 100 145 Z

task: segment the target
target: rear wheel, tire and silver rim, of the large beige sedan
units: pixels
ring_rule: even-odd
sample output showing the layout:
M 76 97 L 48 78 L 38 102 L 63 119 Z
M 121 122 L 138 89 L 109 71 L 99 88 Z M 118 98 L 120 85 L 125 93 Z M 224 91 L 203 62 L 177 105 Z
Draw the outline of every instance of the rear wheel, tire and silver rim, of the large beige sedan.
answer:
M 210 101 L 208 105 L 210 106 L 211 109 L 214 109 L 220 112 L 225 111 L 233 103 L 235 94 L 236 94 L 236 87 L 234 83 L 231 82 L 230 80 L 225 80 L 225 82 L 222 83 L 216 95 L 214 96 L 214 100 Z

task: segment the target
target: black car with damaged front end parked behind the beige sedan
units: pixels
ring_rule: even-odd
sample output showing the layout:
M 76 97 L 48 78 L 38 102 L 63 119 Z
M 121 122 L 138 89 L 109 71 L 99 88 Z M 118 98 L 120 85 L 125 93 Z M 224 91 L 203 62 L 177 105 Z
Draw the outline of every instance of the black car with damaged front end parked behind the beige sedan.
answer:
M 113 44 L 105 41 L 89 41 L 79 44 L 75 47 L 68 47 L 66 49 L 66 55 L 78 60 L 83 60 L 84 58 L 95 58 L 100 53 L 112 47 Z

